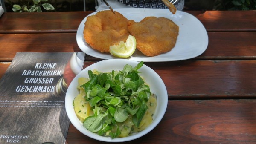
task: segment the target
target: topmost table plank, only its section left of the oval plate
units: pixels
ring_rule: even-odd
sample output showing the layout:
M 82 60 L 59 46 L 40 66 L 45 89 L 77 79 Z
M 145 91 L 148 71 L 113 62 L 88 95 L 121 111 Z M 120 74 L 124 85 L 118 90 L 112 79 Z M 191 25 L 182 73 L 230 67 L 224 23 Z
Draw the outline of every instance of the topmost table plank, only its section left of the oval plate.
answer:
M 0 33 L 76 32 L 81 21 L 92 12 L 5 13 Z

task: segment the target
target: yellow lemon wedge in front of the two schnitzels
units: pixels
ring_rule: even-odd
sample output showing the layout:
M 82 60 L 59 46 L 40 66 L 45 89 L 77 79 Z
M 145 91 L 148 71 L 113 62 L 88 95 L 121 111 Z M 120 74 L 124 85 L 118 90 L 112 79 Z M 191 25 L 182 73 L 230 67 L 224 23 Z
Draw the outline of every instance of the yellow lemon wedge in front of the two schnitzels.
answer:
M 136 39 L 134 36 L 129 35 L 126 42 L 120 41 L 118 45 L 109 47 L 111 55 L 118 58 L 130 57 L 136 49 Z

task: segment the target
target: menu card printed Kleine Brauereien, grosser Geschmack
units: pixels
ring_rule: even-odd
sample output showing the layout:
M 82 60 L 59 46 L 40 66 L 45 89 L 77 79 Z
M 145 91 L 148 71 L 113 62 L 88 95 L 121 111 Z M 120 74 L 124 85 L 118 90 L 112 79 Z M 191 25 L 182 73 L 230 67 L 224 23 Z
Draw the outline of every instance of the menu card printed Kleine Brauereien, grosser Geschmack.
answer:
M 18 52 L 0 80 L 0 144 L 64 144 L 64 100 L 83 52 Z

